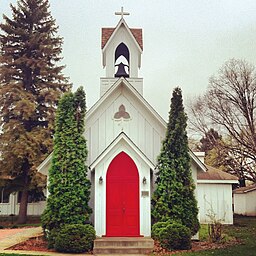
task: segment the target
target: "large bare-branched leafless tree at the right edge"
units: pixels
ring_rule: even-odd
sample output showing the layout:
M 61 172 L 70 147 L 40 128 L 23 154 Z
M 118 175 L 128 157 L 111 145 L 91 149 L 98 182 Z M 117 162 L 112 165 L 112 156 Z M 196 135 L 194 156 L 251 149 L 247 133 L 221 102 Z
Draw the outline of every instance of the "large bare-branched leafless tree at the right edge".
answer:
M 207 92 L 189 107 L 190 127 L 205 135 L 210 128 L 231 138 L 225 143 L 232 155 L 250 166 L 256 182 L 256 69 L 231 59 L 210 78 Z

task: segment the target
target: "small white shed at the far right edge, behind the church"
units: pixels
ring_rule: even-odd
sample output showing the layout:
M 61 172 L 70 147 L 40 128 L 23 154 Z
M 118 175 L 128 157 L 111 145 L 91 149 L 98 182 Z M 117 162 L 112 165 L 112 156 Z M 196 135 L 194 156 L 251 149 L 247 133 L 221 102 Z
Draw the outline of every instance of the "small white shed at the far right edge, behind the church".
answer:
M 256 183 L 233 191 L 234 213 L 256 216 Z

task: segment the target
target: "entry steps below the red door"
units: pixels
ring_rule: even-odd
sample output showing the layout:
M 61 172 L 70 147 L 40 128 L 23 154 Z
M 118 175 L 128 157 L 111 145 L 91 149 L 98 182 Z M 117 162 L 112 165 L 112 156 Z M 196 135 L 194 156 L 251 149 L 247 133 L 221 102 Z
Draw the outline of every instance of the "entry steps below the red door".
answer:
M 154 249 L 149 237 L 101 237 L 94 240 L 94 255 L 145 255 Z

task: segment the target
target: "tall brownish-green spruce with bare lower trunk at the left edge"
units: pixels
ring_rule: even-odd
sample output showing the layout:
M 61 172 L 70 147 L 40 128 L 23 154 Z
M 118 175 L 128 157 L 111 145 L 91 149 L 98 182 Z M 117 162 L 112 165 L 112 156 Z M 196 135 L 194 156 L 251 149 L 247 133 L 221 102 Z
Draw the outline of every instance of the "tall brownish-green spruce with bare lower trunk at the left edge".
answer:
M 48 0 L 18 0 L 11 10 L 0 24 L 0 176 L 22 192 L 24 223 L 36 167 L 52 151 L 57 103 L 70 84 L 58 65 L 62 38 Z

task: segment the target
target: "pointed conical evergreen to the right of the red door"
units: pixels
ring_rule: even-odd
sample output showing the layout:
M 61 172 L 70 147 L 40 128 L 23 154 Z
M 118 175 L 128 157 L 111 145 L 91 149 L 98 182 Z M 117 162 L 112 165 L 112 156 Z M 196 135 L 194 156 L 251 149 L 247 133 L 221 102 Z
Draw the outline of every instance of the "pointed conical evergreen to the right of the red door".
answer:
M 199 230 L 198 208 L 195 199 L 186 132 L 182 92 L 175 88 L 171 99 L 166 138 L 158 157 L 156 190 L 152 197 L 153 222 L 173 220 Z

